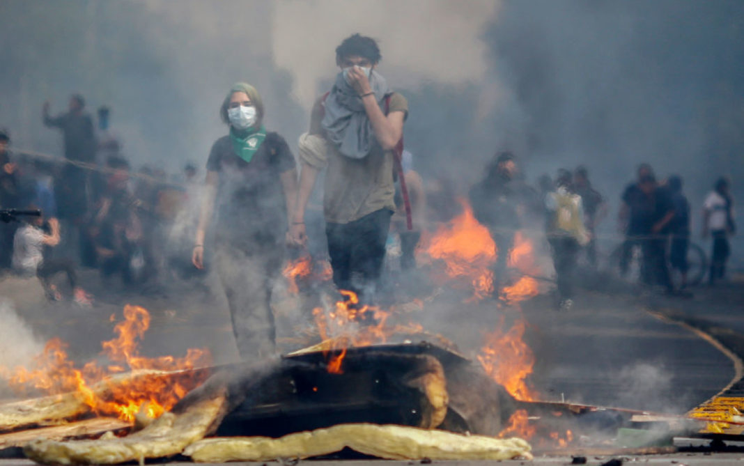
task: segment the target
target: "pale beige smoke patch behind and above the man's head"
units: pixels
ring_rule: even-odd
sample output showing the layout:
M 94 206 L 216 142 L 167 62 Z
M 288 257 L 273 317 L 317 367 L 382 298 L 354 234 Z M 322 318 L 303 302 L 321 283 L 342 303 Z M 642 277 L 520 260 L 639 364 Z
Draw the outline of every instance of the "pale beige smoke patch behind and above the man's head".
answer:
M 493 0 L 284 0 L 275 4 L 275 63 L 294 77 L 295 97 L 308 108 L 318 84 L 333 74 L 336 46 L 353 33 L 377 39 L 380 69 L 394 86 L 481 81 L 487 72 L 483 28 Z

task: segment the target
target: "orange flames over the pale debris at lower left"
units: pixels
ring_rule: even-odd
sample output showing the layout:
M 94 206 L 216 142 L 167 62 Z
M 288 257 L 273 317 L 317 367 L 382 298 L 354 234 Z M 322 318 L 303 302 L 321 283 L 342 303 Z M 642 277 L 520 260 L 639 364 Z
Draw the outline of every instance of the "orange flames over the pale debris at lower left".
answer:
M 133 421 L 135 414 L 144 411 L 151 418 L 157 418 L 171 409 L 187 392 L 202 383 L 208 374 L 190 374 L 187 369 L 211 364 L 207 350 L 190 348 L 185 357 L 142 357 L 138 342 L 150 327 L 150 314 L 142 307 L 126 305 L 124 321 L 119 322 L 114 331 L 115 339 L 103 342 L 101 354 L 112 363 L 106 368 L 97 366 L 95 361 L 76 368 L 68 360 L 67 344 L 61 339 L 51 339 L 42 354 L 34 359 L 34 368 L 18 367 L 14 371 L 0 368 L 0 374 L 8 379 L 11 388 L 20 394 L 27 394 L 33 388 L 48 395 L 77 392 L 82 400 L 100 415 L 117 415 L 126 421 Z M 185 371 L 169 377 L 130 377 L 122 383 L 113 383 L 106 378 L 124 371 L 124 366 L 132 371 Z M 106 390 L 95 390 L 94 385 L 103 383 Z M 100 395 L 106 392 L 106 395 Z

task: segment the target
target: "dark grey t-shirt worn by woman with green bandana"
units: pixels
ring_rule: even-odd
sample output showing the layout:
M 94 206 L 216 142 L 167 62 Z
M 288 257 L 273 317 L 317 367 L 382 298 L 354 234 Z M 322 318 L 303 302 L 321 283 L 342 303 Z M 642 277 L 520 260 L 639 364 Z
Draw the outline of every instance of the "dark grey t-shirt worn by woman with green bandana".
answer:
M 283 244 L 287 220 L 280 175 L 293 168 L 292 152 L 277 133 L 266 134 L 251 162 L 237 156 L 229 136 L 215 141 L 207 170 L 219 173 L 217 246 L 252 252 Z

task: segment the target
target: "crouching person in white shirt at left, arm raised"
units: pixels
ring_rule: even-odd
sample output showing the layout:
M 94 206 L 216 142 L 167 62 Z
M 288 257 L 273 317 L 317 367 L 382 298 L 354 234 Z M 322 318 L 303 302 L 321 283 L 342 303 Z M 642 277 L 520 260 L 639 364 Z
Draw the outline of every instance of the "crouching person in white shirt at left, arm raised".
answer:
M 36 209 L 36 206 L 31 205 L 29 208 Z M 55 275 L 65 273 L 74 301 L 83 306 L 90 306 L 88 294 L 77 285 L 77 274 L 72 262 L 68 259 L 44 257 L 45 246 L 54 248 L 60 243 L 60 223 L 57 219 L 49 219 L 50 234 L 44 232 L 43 225 L 44 217 L 39 216 L 18 229 L 13 240 L 13 269 L 19 275 L 36 275 L 50 301 L 59 301 L 62 298 L 60 291 L 51 283 L 51 280 Z

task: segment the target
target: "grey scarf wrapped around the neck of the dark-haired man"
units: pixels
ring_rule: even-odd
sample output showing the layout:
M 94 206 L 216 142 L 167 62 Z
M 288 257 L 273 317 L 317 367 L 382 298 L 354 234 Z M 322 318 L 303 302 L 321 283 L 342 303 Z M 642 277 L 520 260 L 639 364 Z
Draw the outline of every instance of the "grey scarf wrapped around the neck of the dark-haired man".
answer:
M 370 74 L 372 92 L 380 109 L 383 109 L 388 83 L 385 78 L 372 70 Z M 372 123 L 365 112 L 362 98 L 346 82 L 343 73 L 336 76 L 330 94 L 325 100 L 325 115 L 321 121 L 328 141 L 333 143 L 341 154 L 352 159 L 363 159 L 376 142 Z

